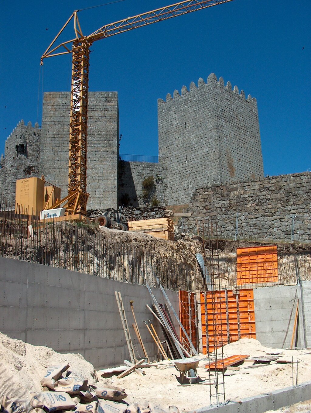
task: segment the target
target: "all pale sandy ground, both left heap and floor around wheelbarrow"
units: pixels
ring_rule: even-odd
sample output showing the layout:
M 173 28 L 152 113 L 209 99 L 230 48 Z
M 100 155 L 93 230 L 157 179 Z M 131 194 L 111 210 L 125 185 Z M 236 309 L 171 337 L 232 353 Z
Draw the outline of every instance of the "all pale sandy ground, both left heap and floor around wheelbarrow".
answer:
M 275 349 L 272 349 L 272 352 Z M 298 384 L 311 380 L 311 354 L 306 349 L 279 350 L 280 358 L 294 361 L 294 383 L 296 383 L 296 369 L 298 366 Z M 250 358 L 264 356 L 271 353 L 271 348 L 262 346 L 255 339 L 241 339 L 223 347 L 223 356 L 249 354 Z M 218 358 L 221 358 L 220 350 Z M 203 356 L 202 356 L 203 357 Z M 178 371 L 167 362 L 158 367 L 143 368 L 145 375 L 135 373 L 118 379 L 116 376 L 103 378 L 100 371 L 95 371 L 93 366 L 79 354 L 59 354 L 47 347 L 32 346 L 20 340 L 13 340 L 0 333 L 0 394 L 30 398 L 30 392 L 41 390 L 40 380 L 45 374 L 45 368 L 52 362 L 68 362 L 71 369 L 83 373 L 88 377 L 90 384 L 100 387 L 105 382 L 124 388 L 128 397 L 126 402 L 147 400 L 167 407 L 175 405 L 180 411 L 193 411 L 210 404 L 210 392 L 207 385 L 191 385 L 178 387 L 176 375 Z M 298 361 L 298 365 L 297 362 Z M 240 370 L 225 376 L 225 399 L 238 401 L 245 397 L 271 392 L 292 386 L 292 364 L 253 365 L 253 361 L 245 361 L 240 365 Z M 205 368 L 207 361 L 200 361 L 197 372 L 202 379 L 209 380 L 209 373 Z M 219 376 L 222 377 L 222 376 Z M 98 381 L 97 381 L 98 380 Z M 222 392 L 222 385 L 219 385 Z M 215 400 L 213 400 L 215 401 Z M 309 406 L 309 407 L 307 407 Z M 311 411 L 310 404 L 302 404 L 304 410 Z M 309 410 L 308 410 L 309 408 Z M 280 410 L 286 412 L 286 410 Z

